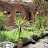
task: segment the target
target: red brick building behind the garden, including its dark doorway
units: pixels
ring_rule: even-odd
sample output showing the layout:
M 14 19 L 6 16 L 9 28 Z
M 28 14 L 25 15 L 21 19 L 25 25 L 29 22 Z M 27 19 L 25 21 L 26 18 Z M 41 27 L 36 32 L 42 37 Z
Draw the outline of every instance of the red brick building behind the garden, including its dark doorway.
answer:
M 8 17 L 8 26 L 15 26 L 14 16 L 19 13 L 22 18 L 26 16 L 27 21 L 34 22 L 34 16 L 40 14 L 40 8 L 33 4 L 24 4 L 20 2 L 7 3 L 0 1 L 0 11 L 4 11 Z M 44 12 L 42 13 L 45 16 Z

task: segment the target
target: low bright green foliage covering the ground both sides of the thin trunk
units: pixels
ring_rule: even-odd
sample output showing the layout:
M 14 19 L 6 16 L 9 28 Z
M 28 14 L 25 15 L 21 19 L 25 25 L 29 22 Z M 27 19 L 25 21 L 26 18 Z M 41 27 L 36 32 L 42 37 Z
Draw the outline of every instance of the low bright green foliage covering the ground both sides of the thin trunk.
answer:
M 40 30 L 35 29 L 35 30 L 31 30 L 31 31 L 22 30 L 22 32 L 20 34 L 20 37 L 22 37 L 22 38 L 24 38 L 24 37 L 30 38 L 33 35 L 40 36 L 41 33 L 42 33 L 41 29 Z M 19 30 L 18 29 L 12 30 L 12 31 L 1 31 L 0 32 L 0 42 L 11 41 L 13 43 L 17 43 L 18 35 L 19 35 Z

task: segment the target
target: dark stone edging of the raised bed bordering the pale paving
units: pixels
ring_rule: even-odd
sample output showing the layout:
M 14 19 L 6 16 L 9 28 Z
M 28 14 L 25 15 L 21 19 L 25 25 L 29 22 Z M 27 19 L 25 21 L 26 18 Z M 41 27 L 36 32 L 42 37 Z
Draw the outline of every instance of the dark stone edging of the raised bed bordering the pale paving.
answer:
M 31 36 L 30 39 L 28 38 L 21 38 L 22 39 L 22 43 L 17 44 L 17 46 L 15 46 L 14 48 L 20 48 L 20 47 L 24 47 L 27 46 L 28 44 L 35 44 L 36 41 L 38 41 L 39 39 L 44 38 L 45 36 L 48 36 L 48 33 L 42 33 L 40 35 L 33 35 Z

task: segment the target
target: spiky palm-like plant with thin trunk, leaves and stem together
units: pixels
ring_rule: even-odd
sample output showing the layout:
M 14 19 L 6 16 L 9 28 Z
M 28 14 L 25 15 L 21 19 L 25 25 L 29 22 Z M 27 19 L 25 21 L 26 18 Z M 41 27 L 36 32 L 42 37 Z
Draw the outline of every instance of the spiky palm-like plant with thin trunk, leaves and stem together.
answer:
M 18 26 L 18 29 L 19 29 L 19 39 L 21 38 L 20 37 L 20 34 L 22 32 L 22 27 L 26 24 L 26 20 L 25 20 L 26 16 L 22 19 L 21 16 L 19 14 L 16 15 L 15 17 L 15 21 L 16 21 L 16 25 Z

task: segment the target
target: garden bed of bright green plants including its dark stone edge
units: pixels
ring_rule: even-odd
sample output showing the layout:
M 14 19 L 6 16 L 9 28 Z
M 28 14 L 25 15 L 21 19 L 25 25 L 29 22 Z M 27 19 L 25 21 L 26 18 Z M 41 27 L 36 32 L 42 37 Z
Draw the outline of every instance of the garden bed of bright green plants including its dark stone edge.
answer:
M 27 46 L 30 43 L 35 44 L 36 41 L 38 41 L 39 39 L 42 39 L 45 36 L 48 36 L 48 31 L 46 33 L 44 32 L 43 34 L 40 34 L 39 36 L 37 33 L 34 35 L 33 34 L 34 34 L 33 32 L 26 32 L 24 30 L 22 31 L 21 39 L 23 41 L 23 46 Z M 10 42 L 13 42 L 16 46 L 16 44 L 18 43 L 18 32 L 17 30 L 16 31 L 1 31 L 0 39 L 1 39 L 0 42 L 10 41 Z

